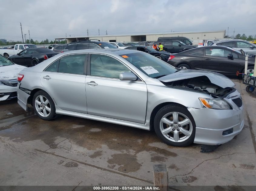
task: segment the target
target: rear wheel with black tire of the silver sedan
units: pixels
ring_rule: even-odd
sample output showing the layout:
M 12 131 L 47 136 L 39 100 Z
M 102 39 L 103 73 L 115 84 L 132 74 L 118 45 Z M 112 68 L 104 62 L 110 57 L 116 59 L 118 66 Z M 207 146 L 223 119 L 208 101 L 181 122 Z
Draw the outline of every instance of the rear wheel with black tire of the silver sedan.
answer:
M 54 119 L 55 104 L 45 91 L 38 91 L 33 96 L 33 107 L 36 115 L 43 120 Z

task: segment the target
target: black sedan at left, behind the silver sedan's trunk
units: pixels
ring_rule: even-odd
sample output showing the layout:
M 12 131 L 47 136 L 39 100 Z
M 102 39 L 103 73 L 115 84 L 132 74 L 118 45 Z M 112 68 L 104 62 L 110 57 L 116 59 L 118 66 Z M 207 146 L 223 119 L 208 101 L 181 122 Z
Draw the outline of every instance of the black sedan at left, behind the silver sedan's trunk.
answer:
M 8 59 L 15 64 L 30 67 L 55 55 L 57 53 L 47 48 L 29 48 L 22 50 L 17 55 L 9 56 Z

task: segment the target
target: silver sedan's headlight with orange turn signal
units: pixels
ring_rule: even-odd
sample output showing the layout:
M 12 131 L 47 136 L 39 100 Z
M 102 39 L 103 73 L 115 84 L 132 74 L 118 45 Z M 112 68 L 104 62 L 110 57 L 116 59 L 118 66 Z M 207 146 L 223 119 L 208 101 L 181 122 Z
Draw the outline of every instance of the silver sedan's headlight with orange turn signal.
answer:
M 231 110 L 231 106 L 223 99 L 220 98 L 202 98 L 199 97 L 199 100 L 204 104 L 206 108 L 216 109 L 216 110 Z

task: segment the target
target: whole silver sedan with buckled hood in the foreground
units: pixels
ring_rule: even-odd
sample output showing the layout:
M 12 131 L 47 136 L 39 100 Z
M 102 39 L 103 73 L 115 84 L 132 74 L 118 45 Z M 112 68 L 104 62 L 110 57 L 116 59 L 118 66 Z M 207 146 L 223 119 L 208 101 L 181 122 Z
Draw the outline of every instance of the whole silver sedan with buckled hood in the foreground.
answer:
M 41 119 L 77 116 L 145 130 L 168 145 L 219 145 L 244 126 L 234 83 L 214 72 L 181 70 L 137 50 L 58 54 L 18 75 L 18 104 Z

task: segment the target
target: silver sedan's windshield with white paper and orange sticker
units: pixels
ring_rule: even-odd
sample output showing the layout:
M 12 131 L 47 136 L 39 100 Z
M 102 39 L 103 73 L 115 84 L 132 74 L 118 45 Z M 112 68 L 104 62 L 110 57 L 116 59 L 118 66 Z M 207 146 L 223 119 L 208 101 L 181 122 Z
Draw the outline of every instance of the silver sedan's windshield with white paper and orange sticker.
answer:
M 177 71 L 173 66 L 147 53 L 131 53 L 120 56 L 151 78 L 160 78 Z

